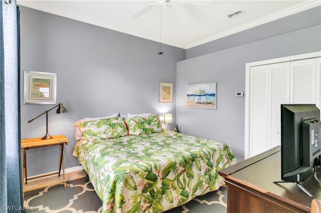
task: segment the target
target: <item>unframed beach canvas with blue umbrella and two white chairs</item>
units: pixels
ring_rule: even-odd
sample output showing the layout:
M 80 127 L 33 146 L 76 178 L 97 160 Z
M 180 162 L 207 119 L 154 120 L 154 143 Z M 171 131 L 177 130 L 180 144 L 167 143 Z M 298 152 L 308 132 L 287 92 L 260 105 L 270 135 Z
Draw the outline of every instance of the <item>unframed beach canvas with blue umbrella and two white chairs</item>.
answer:
M 187 85 L 188 108 L 216 109 L 216 83 Z

